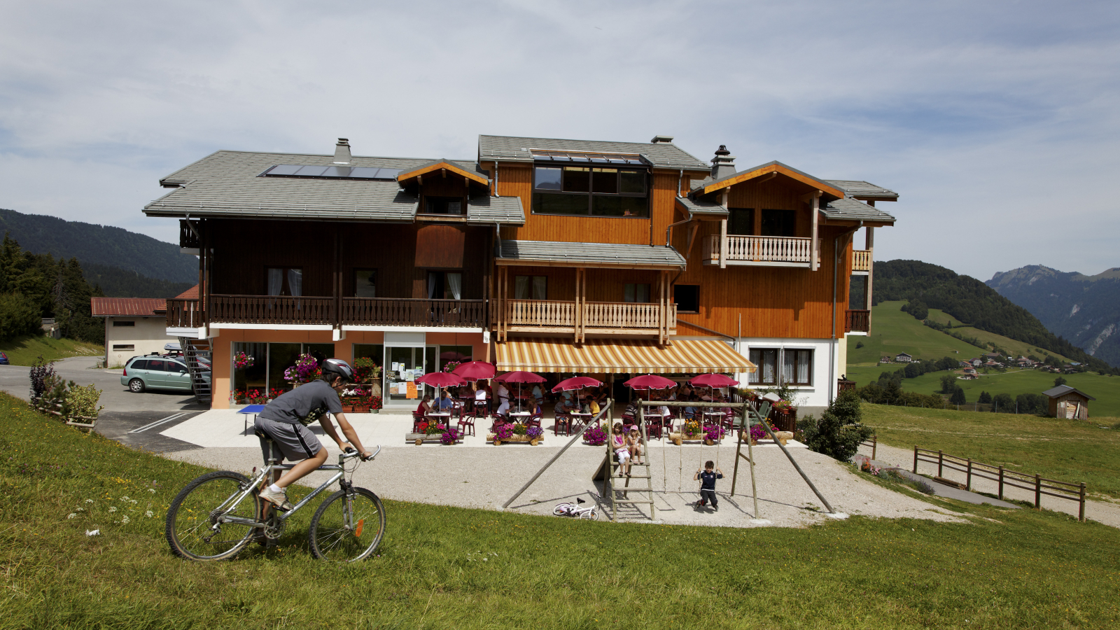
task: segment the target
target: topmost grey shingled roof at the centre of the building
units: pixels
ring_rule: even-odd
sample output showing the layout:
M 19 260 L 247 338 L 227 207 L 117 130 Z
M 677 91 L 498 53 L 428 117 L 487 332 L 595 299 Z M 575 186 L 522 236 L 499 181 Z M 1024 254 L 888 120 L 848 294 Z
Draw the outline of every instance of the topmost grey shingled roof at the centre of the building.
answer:
M 608 142 L 599 140 L 561 140 L 557 138 L 517 138 L 513 136 L 479 136 L 478 161 L 533 161 L 531 149 L 552 151 L 599 151 L 605 154 L 638 154 L 660 168 L 708 170 L 710 165 L 671 142 Z

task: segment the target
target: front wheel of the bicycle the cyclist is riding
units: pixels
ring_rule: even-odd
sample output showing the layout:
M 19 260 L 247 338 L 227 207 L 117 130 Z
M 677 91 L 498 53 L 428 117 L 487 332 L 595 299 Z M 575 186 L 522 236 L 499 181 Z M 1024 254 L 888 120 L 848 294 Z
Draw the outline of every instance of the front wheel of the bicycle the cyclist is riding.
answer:
M 357 562 L 377 548 L 384 534 L 381 499 L 365 488 L 355 488 L 352 500 L 339 490 L 323 501 L 311 517 L 307 537 L 311 555 L 320 560 Z

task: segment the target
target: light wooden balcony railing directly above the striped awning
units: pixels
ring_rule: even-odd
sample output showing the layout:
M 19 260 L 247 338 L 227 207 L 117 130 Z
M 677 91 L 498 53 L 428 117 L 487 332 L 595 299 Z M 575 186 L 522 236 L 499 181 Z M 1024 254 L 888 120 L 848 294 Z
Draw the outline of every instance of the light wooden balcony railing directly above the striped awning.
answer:
M 504 321 L 496 323 L 506 332 L 661 336 L 676 334 L 676 305 L 662 312 L 659 303 L 507 299 Z

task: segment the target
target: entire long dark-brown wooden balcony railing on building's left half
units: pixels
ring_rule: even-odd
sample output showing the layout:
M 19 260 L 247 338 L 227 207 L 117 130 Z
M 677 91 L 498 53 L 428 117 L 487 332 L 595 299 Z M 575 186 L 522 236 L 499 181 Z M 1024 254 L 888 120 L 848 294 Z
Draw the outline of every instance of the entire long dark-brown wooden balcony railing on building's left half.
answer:
M 209 322 L 215 324 L 274 324 L 319 326 L 482 327 L 480 299 L 342 299 L 340 317 L 333 297 L 212 295 Z M 167 327 L 205 325 L 197 299 L 167 300 Z

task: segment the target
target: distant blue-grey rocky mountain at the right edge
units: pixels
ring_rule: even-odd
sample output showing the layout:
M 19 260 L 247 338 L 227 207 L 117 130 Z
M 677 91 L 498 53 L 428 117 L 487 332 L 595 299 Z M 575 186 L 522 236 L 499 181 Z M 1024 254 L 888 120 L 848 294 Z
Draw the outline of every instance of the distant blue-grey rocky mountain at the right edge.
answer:
M 1120 267 L 1085 276 L 1030 265 L 1000 271 L 986 284 L 1055 334 L 1120 365 Z

